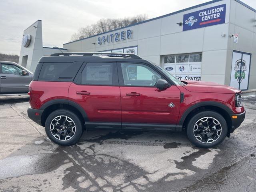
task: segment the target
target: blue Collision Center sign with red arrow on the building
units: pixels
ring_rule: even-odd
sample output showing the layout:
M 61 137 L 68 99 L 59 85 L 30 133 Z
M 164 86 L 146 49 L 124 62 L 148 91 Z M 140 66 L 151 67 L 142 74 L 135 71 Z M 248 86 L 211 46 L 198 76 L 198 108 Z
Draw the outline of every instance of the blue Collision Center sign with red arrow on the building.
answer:
M 225 23 L 226 4 L 185 14 L 183 31 Z

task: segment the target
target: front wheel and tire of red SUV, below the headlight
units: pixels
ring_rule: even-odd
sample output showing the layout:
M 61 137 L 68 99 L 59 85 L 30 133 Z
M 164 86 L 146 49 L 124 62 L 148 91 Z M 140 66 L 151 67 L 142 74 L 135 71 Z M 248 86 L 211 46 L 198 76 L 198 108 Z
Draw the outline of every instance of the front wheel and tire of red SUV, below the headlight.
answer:
M 214 111 L 195 114 L 187 126 L 188 139 L 197 147 L 211 148 L 227 136 L 228 126 L 222 115 Z

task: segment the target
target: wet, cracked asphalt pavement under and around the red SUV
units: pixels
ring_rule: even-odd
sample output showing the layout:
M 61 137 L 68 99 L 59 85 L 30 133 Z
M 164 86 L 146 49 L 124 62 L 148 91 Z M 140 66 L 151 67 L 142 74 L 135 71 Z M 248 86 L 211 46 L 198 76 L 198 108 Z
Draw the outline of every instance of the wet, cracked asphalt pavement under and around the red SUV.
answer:
M 8 103 L 8 104 L 6 104 Z M 0 192 L 255 192 L 256 101 L 216 148 L 185 133 L 84 132 L 76 145 L 48 140 L 26 114 L 28 102 L 0 103 Z

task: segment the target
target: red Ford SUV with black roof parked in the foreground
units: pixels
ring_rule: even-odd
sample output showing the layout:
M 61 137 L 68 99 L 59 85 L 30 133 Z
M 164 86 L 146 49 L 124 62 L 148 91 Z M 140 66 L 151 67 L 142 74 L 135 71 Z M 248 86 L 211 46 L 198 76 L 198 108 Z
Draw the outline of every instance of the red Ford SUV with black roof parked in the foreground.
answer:
M 74 144 L 85 129 L 186 130 L 194 145 L 208 148 L 245 118 L 240 90 L 179 81 L 134 54 L 42 57 L 29 89 L 28 116 L 59 145 Z

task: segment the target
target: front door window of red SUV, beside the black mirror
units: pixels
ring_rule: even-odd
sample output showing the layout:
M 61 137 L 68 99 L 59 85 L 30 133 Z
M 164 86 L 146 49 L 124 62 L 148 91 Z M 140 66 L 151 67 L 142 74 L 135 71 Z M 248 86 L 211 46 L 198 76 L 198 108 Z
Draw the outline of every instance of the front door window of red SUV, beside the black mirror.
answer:
M 152 68 L 144 64 L 121 63 L 125 86 L 152 86 L 161 76 Z

